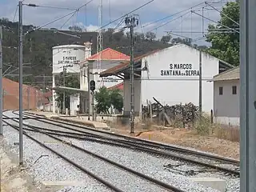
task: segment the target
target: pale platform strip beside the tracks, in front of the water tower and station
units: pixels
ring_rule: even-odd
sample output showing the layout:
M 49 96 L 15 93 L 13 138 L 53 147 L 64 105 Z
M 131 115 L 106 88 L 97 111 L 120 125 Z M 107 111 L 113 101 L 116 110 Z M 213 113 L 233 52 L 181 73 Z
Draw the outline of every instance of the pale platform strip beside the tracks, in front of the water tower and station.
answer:
M 50 112 L 42 112 L 42 111 L 29 111 L 27 113 L 38 115 L 44 118 L 52 118 L 52 119 L 61 120 L 65 122 L 74 122 L 74 123 L 82 124 L 84 126 L 90 126 L 95 129 L 110 130 L 110 127 L 107 126 L 105 122 L 88 121 L 86 119 L 78 118 L 76 116 L 52 114 Z

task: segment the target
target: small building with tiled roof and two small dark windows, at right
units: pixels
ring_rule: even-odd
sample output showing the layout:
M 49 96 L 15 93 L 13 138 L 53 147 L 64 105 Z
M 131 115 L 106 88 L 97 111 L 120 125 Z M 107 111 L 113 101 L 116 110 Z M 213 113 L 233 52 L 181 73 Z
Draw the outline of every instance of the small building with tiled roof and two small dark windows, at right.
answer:
M 216 122 L 239 126 L 240 68 L 214 76 L 214 119 Z

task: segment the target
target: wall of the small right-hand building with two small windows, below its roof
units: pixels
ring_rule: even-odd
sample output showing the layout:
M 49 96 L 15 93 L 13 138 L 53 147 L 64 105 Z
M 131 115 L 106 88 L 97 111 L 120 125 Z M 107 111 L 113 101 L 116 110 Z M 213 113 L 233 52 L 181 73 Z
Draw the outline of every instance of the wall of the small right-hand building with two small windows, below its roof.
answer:
M 232 94 L 232 86 L 237 86 L 237 94 Z M 223 87 L 222 95 L 219 87 Z M 214 82 L 214 118 L 223 124 L 239 125 L 239 80 Z

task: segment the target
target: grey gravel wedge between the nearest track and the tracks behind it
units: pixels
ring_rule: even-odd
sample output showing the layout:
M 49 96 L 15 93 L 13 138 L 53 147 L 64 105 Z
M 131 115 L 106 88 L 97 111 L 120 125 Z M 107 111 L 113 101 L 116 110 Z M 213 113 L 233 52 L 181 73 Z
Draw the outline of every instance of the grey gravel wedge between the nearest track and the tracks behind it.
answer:
M 26 122 L 30 122 L 31 123 L 30 125 L 42 126 L 42 127 L 46 127 L 46 128 L 50 128 L 50 129 L 53 129 L 53 127 L 54 127 L 50 124 L 46 124 L 43 122 L 37 122 L 36 120 L 26 120 Z M 54 129 L 57 127 L 58 126 L 55 126 Z M 16 130 L 14 130 L 14 131 L 16 131 Z M 18 131 L 16 131 L 16 132 L 18 133 Z M 142 174 L 149 175 L 152 178 L 157 178 L 157 179 L 161 180 L 162 182 L 166 182 L 170 185 L 174 185 L 174 186 L 181 188 L 182 190 L 185 190 L 185 191 L 191 191 L 191 192 L 198 192 L 198 191 L 214 192 L 214 191 L 217 191 L 217 190 L 213 190 L 213 189 L 204 187 L 202 185 L 199 185 L 198 183 L 192 182 L 190 180 L 190 178 L 193 178 L 193 177 L 224 178 L 227 181 L 227 185 L 228 185 L 227 191 L 228 192 L 239 191 L 239 178 L 230 178 L 228 176 L 224 176 L 224 175 L 218 174 L 218 173 L 211 174 L 207 171 L 203 172 L 203 173 L 198 173 L 194 176 L 189 176 L 189 175 L 184 176 L 184 175 L 182 175 L 183 174 L 182 171 L 187 171 L 187 170 L 197 171 L 197 170 L 202 170 L 202 168 L 200 168 L 198 166 L 186 165 L 184 163 L 166 159 L 166 158 L 153 157 L 150 154 L 145 154 L 145 153 L 132 151 L 132 150 L 124 149 L 124 148 L 118 148 L 116 146 L 106 146 L 106 145 L 102 145 L 102 144 L 95 143 L 95 142 L 81 142 L 81 141 L 78 141 L 75 139 L 69 139 L 69 138 L 62 138 L 62 139 L 71 141 L 73 144 L 78 145 L 86 150 L 90 150 L 91 152 L 94 152 L 95 154 L 101 155 L 105 158 L 109 158 L 110 160 L 112 160 L 114 162 L 118 162 L 118 163 L 122 164 L 123 166 L 128 166 L 133 170 L 141 172 Z M 32 141 L 30 141 L 30 142 L 32 142 Z M 64 147 L 58 146 L 58 145 L 52 145 L 52 146 L 57 147 L 56 149 L 59 150 L 59 152 L 62 152 L 62 150 L 64 148 Z M 48 153 L 50 153 L 50 152 L 48 152 Z M 74 152 L 73 152 L 73 154 L 74 154 Z M 78 153 L 75 153 L 75 154 L 78 154 Z M 74 154 L 74 156 L 75 156 L 75 154 Z M 81 155 L 79 154 L 79 161 L 82 161 L 82 159 L 80 159 L 81 158 L 80 156 L 82 156 L 82 155 L 84 155 L 84 154 L 81 154 Z M 182 164 L 182 166 L 178 166 L 178 167 L 174 167 L 174 168 L 181 170 L 181 171 L 177 171 L 177 170 L 174 171 L 172 169 L 164 167 L 166 165 L 176 166 L 176 165 L 180 165 L 180 164 Z M 63 190 L 63 191 L 65 191 L 65 190 Z M 82 191 L 82 190 L 78 190 L 78 187 L 73 187 L 72 189 L 70 188 L 70 191 Z M 90 191 L 90 190 L 86 189 L 86 191 Z M 93 190 L 93 191 L 107 191 L 107 190 Z M 158 190 L 155 190 L 155 191 L 158 191 Z M 162 190 L 160 190 L 160 191 L 162 191 Z

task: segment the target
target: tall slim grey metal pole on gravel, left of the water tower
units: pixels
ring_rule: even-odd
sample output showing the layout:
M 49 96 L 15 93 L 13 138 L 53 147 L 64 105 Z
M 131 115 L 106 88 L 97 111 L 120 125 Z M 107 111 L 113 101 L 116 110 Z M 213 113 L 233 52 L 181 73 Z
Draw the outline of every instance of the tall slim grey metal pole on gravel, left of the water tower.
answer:
M 22 119 L 22 111 L 23 111 L 23 106 L 22 106 L 22 90 L 23 90 L 23 74 L 22 74 L 22 66 L 23 66 L 23 30 L 22 30 L 22 1 L 18 2 L 18 37 L 19 37 L 19 42 L 18 42 L 18 70 L 19 70 L 19 165 L 23 164 L 23 119 Z

